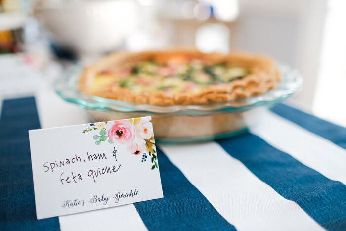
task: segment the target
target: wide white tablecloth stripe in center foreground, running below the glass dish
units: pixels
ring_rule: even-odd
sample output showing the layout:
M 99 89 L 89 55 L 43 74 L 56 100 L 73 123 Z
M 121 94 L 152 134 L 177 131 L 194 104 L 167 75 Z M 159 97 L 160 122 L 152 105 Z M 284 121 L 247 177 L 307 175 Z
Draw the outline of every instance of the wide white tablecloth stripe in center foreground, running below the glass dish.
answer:
M 237 230 L 324 230 L 295 202 L 260 181 L 219 144 L 161 148 Z

